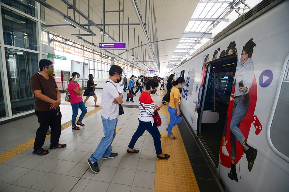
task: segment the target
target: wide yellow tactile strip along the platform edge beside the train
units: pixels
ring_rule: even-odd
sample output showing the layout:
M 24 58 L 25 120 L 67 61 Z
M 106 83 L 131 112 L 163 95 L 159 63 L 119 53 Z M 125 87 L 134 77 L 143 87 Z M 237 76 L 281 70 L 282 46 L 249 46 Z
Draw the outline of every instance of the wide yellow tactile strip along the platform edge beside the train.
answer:
M 160 95 L 163 97 L 165 91 Z M 170 116 L 168 103 L 164 105 L 160 113 L 166 113 L 169 124 Z M 169 154 L 169 160 L 156 160 L 155 164 L 155 192 L 191 192 L 200 191 L 194 175 L 183 139 L 176 125 L 172 129 L 176 140 L 169 139 L 162 134 L 162 151 Z

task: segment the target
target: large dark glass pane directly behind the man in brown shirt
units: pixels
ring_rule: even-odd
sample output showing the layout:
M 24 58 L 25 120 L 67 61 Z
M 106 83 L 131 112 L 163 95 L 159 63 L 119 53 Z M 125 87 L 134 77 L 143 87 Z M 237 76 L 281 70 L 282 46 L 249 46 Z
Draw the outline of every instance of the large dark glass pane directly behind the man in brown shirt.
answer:
M 5 48 L 12 114 L 29 111 L 35 107 L 29 79 L 39 71 L 38 57 L 36 53 Z

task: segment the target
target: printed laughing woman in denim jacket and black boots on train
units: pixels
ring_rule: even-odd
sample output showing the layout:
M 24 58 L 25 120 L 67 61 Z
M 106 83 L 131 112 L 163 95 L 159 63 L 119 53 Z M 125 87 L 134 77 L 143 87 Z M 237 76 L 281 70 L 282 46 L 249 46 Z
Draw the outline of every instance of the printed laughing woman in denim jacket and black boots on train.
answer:
M 248 169 L 252 170 L 257 150 L 247 143 L 245 136 L 239 129 L 240 122 L 244 119 L 249 108 L 249 91 L 254 79 L 254 65 L 251 59 L 253 48 L 256 44 L 250 39 L 243 47 L 241 58 L 237 64 L 235 74 L 235 94 L 232 109 L 232 119 L 230 123 L 230 142 L 231 142 L 231 171 L 228 177 L 238 181 L 236 173 L 236 140 L 242 145 L 248 161 Z M 238 157 L 240 158 L 240 157 Z

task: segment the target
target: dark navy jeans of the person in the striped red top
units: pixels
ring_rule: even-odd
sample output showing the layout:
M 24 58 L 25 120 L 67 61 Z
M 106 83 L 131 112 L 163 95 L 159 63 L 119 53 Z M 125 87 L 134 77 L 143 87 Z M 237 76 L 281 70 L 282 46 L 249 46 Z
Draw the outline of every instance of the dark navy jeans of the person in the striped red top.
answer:
M 151 125 L 150 121 L 141 121 L 138 124 L 138 129 L 135 131 L 134 135 L 131 138 L 131 142 L 128 144 L 128 147 L 133 149 L 138 138 L 145 133 L 145 130 L 148 130 L 148 133 L 154 138 L 155 152 L 160 155 L 162 153 L 162 143 L 161 143 L 161 134 L 158 131 L 158 127 Z

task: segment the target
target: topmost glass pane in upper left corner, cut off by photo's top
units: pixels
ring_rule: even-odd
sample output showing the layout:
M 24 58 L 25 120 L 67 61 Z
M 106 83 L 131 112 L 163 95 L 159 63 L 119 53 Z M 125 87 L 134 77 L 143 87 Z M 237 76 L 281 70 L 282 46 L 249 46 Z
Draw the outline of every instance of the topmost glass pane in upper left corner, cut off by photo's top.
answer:
M 37 5 L 34 0 L 1 0 L 1 3 L 4 3 L 10 7 L 13 7 L 27 15 L 37 18 Z M 44 6 L 43 6 L 44 10 Z M 43 11 L 44 14 L 44 11 Z M 44 20 L 43 20 L 44 21 Z

